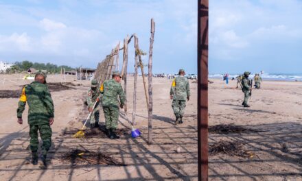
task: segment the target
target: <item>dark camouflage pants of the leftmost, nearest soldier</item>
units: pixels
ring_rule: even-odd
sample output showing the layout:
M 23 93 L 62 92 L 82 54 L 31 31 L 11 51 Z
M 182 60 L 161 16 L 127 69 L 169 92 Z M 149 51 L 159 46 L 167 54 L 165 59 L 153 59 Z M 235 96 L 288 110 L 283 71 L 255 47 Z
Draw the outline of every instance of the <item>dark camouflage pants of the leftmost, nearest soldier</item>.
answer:
M 38 131 L 40 132 L 40 138 L 43 141 L 42 153 L 47 154 L 51 147 L 51 128 L 49 124 L 43 125 L 30 125 L 30 149 L 32 152 L 38 151 Z

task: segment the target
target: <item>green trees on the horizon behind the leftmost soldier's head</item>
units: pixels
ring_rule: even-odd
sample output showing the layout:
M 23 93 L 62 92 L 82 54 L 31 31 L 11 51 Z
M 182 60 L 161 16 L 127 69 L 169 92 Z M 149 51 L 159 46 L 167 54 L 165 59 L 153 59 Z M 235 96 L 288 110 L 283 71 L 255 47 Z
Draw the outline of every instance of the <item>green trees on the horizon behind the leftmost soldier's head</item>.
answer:
M 49 73 L 60 73 L 61 69 L 65 71 L 72 71 L 73 68 L 69 67 L 67 65 L 56 65 L 56 64 L 51 64 L 51 63 L 38 63 L 38 62 L 30 62 L 30 61 L 23 61 L 23 62 L 15 62 L 15 69 L 16 71 L 27 71 L 30 68 L 34 68 L 37 71 L 42 71 L 42 70 L 46 70 Z

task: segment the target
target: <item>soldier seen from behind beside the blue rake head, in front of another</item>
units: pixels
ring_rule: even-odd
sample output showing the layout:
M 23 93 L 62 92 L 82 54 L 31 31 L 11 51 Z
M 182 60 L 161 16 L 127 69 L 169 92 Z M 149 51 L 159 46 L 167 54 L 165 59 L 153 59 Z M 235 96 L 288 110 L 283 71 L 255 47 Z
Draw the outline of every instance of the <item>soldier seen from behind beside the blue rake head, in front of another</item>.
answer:
M 121 76 L 118 71 L 114 71 L 111 80 L 106 80 L 100 90 L 103 94 L 102 107 L 105 115 L 106 132 L 111 139 L 119 138 L 115 130 L 117 129 L 117 123 L 119 120 L 119 107 L 124 107 L 124 90 L 119 82 Z M 120 104 L 118 101 L 120 100 Z

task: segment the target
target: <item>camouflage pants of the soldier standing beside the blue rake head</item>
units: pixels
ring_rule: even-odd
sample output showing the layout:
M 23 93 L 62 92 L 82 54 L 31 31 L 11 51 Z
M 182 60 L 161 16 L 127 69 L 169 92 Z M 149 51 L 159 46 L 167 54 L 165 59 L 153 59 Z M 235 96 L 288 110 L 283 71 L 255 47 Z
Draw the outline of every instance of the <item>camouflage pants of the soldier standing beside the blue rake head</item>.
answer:
M 105 115 L 106 129 L 117 129 L 119 121 L 119 107 L 117 106 L 103 106 Z

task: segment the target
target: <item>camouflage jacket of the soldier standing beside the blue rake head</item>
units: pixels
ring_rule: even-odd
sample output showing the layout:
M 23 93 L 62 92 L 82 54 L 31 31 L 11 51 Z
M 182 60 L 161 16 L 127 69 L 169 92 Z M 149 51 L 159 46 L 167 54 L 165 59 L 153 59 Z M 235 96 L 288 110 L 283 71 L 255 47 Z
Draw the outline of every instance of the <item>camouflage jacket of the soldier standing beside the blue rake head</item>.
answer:
M 121 106 L 124 106 L 124 102 L 126 99 L 124 95 L 124 90 L 121 87 L 121 84 L 119 84 L 115 80 L 106 80 L 102 84 L 100 91 L 103 94 L 102 106 L 119 106 L 117 96 L 119 96 Z

